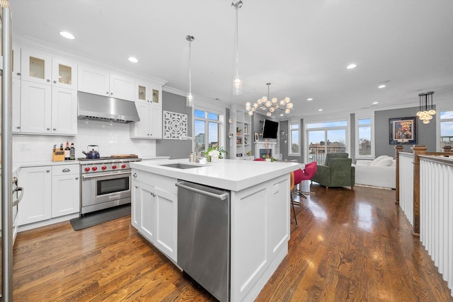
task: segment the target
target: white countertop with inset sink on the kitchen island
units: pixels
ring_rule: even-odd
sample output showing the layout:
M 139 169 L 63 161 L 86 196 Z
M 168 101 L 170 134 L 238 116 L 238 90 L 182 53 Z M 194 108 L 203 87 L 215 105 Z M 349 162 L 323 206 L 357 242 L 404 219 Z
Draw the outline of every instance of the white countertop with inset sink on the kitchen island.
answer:
M 188 163 L 200 168 L 179 169 L 162 166 L 166 163 Z M 241 161 L 221 159 L 218 163 L 189 163 L 188 158 L 134 162 L 132 169 L 164 175 L 179 180 L 210 185 L 231 191 L 239 191 L 258 185 L 261 182 L 289 174 L 299 168 L 299 163 L 278 161 L 268 163 L 264 161 Z

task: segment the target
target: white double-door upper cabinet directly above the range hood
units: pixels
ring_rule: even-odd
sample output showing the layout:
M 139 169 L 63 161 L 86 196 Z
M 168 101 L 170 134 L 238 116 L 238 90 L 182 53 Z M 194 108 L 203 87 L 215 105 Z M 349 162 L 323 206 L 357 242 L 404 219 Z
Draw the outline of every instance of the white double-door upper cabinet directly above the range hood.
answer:
M 94 66 L 79 66 L 79 91 L 134 100 L 134 80 Z

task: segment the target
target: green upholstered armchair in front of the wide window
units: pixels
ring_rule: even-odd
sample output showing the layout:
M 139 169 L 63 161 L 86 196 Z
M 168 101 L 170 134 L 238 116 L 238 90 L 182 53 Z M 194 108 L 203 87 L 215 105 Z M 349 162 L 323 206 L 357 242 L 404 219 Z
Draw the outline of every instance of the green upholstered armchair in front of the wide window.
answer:
M 355 167 L 352 166 L 348 153 L 327 153 L 323 165 L 318 165 L 318 170 L 312 182 L 328 187 L 351 187 L 355 185 Z

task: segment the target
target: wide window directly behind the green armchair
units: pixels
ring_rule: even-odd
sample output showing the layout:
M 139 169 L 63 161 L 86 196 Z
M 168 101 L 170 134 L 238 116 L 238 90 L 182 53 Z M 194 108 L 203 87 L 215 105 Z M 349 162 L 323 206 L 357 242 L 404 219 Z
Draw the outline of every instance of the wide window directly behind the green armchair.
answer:
M 348 152 L 348 120 L 306 124 L 307 163 L 323 164 L 326 153 Z

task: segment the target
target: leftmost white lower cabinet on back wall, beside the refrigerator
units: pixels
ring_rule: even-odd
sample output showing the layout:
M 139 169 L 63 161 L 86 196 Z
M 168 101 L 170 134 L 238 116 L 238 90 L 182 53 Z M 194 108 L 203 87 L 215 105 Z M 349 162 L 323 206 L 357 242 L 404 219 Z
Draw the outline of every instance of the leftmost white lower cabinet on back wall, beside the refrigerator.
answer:
M 18 207 L 19 225 L 50 219 L 52 215 L 52 167 L 21 168 L 18 179 L 23 198 Z

